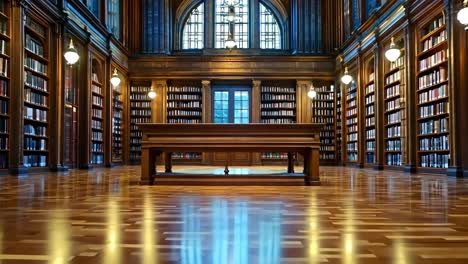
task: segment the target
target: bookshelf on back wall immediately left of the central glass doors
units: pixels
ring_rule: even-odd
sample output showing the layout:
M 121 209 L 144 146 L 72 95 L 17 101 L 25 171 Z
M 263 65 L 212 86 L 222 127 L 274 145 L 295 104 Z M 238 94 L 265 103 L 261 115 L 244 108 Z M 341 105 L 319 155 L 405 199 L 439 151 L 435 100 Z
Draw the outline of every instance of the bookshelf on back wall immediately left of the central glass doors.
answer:
M 195 82 L 172 81 L 167 88 L 167 123 L 203 122 L 203 89 Z M 201 152 L 173 152 L 175 163 L 201 163 Z

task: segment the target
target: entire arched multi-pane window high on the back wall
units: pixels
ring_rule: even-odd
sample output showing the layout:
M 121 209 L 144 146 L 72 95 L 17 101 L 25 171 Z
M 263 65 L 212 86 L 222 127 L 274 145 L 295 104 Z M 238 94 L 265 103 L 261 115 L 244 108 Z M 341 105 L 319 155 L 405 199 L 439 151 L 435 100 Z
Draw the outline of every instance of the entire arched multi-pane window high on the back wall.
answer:
M 212 36 L 205 32 L 205 5 L 202 1 L 198 6 L 189 11 L 183 22 L 180 48 L 203 49 L 203 48 L 226 48 L 229 32 L 233 32 L 233 39 L 238 49 L 248 49 L 260 46 L 261 49 L 283 49 L 283 24 L 277 18 L 278 13 L 271 10 L 271 6 L 251 0 L 213 0 L 213 10 L 206 12 L 214 14 L 214 24 L 210 25 Z M 234 3 L 236 20 L 234 23 L 228 21 L 229 3 Z M 256 3 L 258 6 L 249 5 Z M 211 6 L 211 5 L 210 5 Z M 282 11 L 282 10 L 281 10 Z M 279 12 L 281 12 L 279 11 Z M 253 12 L 257 12 L 253 15 Z M 187 14 L 187 13 L 183 13 Z M 184 18 L 181 19 L 184 21 Z M 253 21 L 252 21 L 253 20 Z M 252 30 L 252 25 L 257 25 L 258 30 Z M 211 27 L 212 26 L 212 27 Z M 208 28 L 208 27 L 206 27 Z M 257 34 L 255 34 L 257 33 Z M 204 43 L 205 39 L 213 39 L 209 46 Z M 259 44 L 257 44 L 259 43 Z

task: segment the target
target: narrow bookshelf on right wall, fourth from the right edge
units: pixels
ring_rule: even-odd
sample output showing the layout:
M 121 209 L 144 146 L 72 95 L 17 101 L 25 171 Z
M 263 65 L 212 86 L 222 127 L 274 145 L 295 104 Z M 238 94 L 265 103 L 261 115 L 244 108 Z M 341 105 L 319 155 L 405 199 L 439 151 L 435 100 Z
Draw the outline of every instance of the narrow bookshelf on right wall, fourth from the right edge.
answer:
M 358 108 L 357 85 L 353 81 L 346 88 L 345 120 L 346 120 L 346 161 L 358 161 Z

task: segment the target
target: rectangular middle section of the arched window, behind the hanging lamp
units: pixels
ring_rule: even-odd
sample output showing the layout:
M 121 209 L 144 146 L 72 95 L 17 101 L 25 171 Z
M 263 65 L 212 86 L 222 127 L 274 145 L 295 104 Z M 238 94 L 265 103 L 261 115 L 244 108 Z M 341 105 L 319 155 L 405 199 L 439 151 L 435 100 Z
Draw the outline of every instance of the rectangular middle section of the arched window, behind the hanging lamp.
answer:
M 225 42 L 229 36 L 228 1 L 216 0 L 215 19 L 215 48 L 225 48 Z M 237 0 L 235 5 L 237 20 L 234 25 L 234 40 L 237 48 L 249 47 L 249 1 Z

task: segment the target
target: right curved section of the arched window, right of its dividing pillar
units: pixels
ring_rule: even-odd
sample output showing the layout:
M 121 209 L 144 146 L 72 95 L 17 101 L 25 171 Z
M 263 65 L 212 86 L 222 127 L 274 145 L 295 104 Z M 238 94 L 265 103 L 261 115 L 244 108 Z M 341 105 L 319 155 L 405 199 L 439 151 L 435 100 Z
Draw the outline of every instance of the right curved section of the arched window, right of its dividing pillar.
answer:
M 260 48 L 281 49 L 281 31 L 270 9 L 260 3 Z

